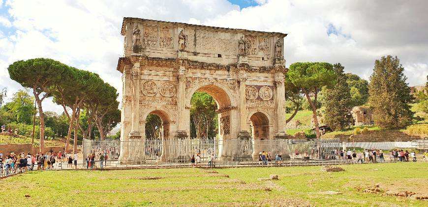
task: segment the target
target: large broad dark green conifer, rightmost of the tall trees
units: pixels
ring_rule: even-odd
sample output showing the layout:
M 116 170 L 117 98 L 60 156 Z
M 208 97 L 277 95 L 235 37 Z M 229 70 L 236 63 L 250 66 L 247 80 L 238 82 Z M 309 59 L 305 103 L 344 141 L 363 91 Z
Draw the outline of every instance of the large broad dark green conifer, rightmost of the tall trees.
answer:
M 369 84 L 369 103 L 376 125 L 384 129 L 396 129 L 412 123 L 410 87 L 403 74 L 399 59 L 388 55 L 374 63 Z

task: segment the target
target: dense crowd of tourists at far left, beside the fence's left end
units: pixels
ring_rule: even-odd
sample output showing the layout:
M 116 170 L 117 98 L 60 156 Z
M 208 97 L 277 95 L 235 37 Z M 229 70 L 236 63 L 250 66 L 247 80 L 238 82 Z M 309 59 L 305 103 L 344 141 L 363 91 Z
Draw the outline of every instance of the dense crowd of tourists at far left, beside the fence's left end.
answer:
M 27 170 L 48 170 L 54 169 L 54 164 L 68 160 L 69 168 L 77 169 L 77 153 L 66 154 L 62 152 L 46 152 L 46 153 L 10 153 L 9 155 L 0 154 L 0 174 L 8 176 L 9 174 L 21 173 Z M 71 160 L 71 161 L 70 161 Z M 36 168 L 35 168 L 35 167 Z

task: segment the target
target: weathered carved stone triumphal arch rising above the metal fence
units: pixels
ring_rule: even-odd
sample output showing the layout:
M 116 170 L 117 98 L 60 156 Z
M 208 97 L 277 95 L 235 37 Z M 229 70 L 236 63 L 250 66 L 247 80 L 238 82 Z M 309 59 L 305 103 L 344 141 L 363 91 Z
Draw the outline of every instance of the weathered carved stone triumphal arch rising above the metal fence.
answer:
M 188 137 L 196 91 L 215 99 L 223 142 L 285 137 L 287 34 L 138 18 L 124 18 L 121 34 L 121 141 L 145 140 L 149 114 L 162 119 L 165 140 Z

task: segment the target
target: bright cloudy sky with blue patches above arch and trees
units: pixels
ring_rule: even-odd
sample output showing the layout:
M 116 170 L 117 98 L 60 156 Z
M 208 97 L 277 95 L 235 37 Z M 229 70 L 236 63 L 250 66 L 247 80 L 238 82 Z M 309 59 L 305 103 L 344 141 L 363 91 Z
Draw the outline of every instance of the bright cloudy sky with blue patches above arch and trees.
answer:
M 11 63 L 47 57 L 95 72 L 120 93 L 123 17 L 287 33 L 287 67 L 340 62 L 367 80 L 375 59 L 397 55 L 414 86 L 428 75 L 426 8 L 425 0 L 0 0 L 0 90 L 8 102 L 22 89 Z

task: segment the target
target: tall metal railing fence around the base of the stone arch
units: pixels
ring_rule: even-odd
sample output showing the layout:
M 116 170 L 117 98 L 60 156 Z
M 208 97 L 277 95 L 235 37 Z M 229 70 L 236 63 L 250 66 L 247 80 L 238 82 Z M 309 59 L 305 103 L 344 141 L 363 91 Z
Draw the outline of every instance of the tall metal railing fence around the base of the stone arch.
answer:
M 212 160 L 217 165 L 258 165 L 261 154 L 269 162 L 319 163 L 335 161 L 342 148 L 338 139 L 296 140 L 263 138 L 185 138 L 163 140 L 84 140 L 83 162 L 88 155 L 95 156 L 99 163 L 100 154 L 106 155 L 104 166 L 152 166 L 187 165 L 192 156 L 200 157 L 201 163 Z M 280 160 L 279 160 L 280 159 Z M 99 164 L 98 164 L 99 165 Z

